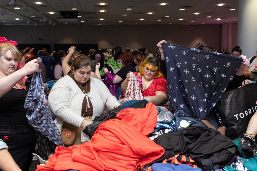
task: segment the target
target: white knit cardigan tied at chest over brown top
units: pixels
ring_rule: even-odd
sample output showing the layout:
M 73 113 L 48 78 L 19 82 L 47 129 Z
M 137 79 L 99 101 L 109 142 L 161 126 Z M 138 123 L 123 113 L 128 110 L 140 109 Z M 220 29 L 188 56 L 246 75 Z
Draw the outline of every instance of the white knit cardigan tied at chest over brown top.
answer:
M 48 96 L 48 109 L 59 131 L 62 130 L 63 121 L 76 127 L 81 127 L 84 118 L 81 116 L 82 102 L 88 96 L 93 105 L 93 119 L 103 113 L 106 102 L 107 109 L 120 105 L 116 97 L 112 96 L 106 85 L 97 78 L 90 77 L 90 92 L 83 93 L 73 79 L 66 75 L 60 78 L 51 89 Z M 91 108 L 89 106 L 88 108 Z

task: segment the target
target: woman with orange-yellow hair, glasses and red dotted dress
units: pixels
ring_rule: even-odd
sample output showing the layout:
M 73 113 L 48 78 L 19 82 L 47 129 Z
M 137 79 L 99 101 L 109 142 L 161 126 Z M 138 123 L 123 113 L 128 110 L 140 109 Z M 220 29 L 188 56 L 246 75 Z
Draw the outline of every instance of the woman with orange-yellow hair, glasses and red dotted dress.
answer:
M 147 58 L 142 63 L 139 72 L 134 72 L 134 74 L 138 79 L 140 90 L 145 100 L 152 102 L 156 106 L 163 106 L 168 102 L 167 80 L 163 78 L 160 71 L 158 58 Z M 127 79 L 121 84 L 122 92 L 126 92 L 129 78 L 130 73 L 127 74 Z

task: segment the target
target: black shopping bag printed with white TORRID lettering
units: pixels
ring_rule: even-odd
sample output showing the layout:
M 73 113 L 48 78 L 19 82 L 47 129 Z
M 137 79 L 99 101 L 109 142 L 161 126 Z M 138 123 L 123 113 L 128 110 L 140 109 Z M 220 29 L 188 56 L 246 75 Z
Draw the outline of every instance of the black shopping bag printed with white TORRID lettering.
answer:
M 257 110 L 257 83 L 228 91 L 220 98 L 213 111 L 220 126 L 235 128 L 239 137 Z

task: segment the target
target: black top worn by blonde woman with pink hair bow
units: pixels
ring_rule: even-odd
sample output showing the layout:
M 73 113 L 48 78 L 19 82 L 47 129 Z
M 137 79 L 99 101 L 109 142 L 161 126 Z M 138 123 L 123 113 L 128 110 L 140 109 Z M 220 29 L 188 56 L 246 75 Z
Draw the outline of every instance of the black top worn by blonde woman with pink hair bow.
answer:
M 24 102 L 26 90 L 12 88 L 0 97 L 0 125 L 28 125 Z

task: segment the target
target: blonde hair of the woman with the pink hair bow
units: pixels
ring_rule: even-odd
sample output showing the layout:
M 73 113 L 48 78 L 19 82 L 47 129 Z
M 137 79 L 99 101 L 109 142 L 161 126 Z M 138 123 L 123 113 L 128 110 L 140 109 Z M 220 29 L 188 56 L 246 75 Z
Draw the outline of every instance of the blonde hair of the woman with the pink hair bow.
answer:
M 10 50 L 11 54 L 13 56 L 13 59 L 20 61 L 20 51 L 12 44 L 12 43 L 1 43 L 0 44 L 0 56 L 4 55 L 6 57 L 10 57 L 6 55 L 6 51 Z M 19 68 L 17 66 L 16 71 L 18 71 Z M 23 80 L 21 79 L 18 84 L 20 85 L 20 87 L 26 87 L 25 83 L 23 82 Z

